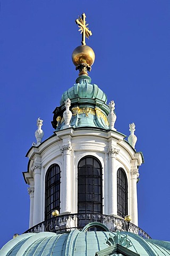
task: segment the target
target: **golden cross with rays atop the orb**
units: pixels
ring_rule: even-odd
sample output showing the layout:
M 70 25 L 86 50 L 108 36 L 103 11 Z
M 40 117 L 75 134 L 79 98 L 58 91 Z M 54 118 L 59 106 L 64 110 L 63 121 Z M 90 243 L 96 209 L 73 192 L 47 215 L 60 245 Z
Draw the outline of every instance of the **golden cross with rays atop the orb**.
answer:
M 81 34 L 82 34 L 81 44 L 82 45 L 86 45 L 85 38 L 87 37 L 89 39 L 89 36 L 92 35 L 92 33 L 89 30 L 89 28 L 87 28 L 87 26 L 89 24 L 86 24 L 86 14 L 83 13 L 82 14 L 82 18 L 79 17 L 79 19 L 75 20 L 75 23 L 77 23 L 79 25 L 79 28 L 80 28 L 79 31 L 81 31 Z

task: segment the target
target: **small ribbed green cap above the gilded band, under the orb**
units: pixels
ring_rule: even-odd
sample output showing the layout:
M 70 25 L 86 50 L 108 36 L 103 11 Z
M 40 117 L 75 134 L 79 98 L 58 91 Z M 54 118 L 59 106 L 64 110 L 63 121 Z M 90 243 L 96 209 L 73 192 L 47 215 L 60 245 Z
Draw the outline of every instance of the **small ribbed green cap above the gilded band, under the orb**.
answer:
M 71 101 L 75 98 L 98 99 L 106 103 L 106 94 L 96 84 L 90 83 L 91 78 L 89 76 L 78 77 L 76 84 L 63 93 L 60 104 L 63 105 L 68 98 Z

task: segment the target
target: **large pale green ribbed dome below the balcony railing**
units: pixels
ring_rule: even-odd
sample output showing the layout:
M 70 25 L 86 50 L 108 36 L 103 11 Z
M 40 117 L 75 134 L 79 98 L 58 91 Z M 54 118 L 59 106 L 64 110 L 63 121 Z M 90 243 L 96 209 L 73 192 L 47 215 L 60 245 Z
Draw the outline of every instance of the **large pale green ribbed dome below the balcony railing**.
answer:
M 118 249 L 115 252 L 116 246 Z M 42 232 L 20 235 L 4 245 L 0 256 L 95 256 L 96 253 L 96 255 L 107 255 L 103 254 L 106 250 L 113 251 L 112 255 L 122 255 L 120 249 L 124 251 L 123 255 L 170 255 L 169 242 L 143 239 L 128 232 L 85 232 L 75 229 L 71 233 L 64 234 Z

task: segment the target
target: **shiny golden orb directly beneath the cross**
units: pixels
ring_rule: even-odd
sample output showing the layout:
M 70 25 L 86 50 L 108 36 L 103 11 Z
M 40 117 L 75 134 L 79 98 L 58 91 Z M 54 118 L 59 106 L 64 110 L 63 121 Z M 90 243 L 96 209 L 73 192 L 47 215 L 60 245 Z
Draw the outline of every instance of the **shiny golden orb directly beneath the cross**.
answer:
M 72 61 L 76 67 L 81 63 L 86 63 L 87 66 L 91 67 L 95 61 L 95 52 L 88 45 L 80 45 L 74 49 Z

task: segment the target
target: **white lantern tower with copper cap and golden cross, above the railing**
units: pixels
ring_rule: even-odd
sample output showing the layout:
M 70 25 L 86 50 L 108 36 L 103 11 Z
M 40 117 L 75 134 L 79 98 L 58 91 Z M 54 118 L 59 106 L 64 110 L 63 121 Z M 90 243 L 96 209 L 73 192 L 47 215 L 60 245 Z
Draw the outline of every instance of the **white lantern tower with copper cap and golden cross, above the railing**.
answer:
M 81 226 L 105 215 L 123 220 L 130 215 L 138 226 L 137 181 L 143 156 L 134 148 L 135 125 L 130 124 L 128 142 L 116 131 L 114 101 L 107 105 L 106 94 L 88 76 L 95 53 L 85 42 L 92 35 L 85 19 L 83 13 L 76 20 L 82 45 L 72 54 L 79 77 L 53 112 L 54 135 L 41 143 L 43 121 L 38 119 L 37 143 L 27 154 L 28 171 L 23 174 L 30 186 L 30 228 L 52 218 L 54 210 L 60 216 L 79 216 Z

